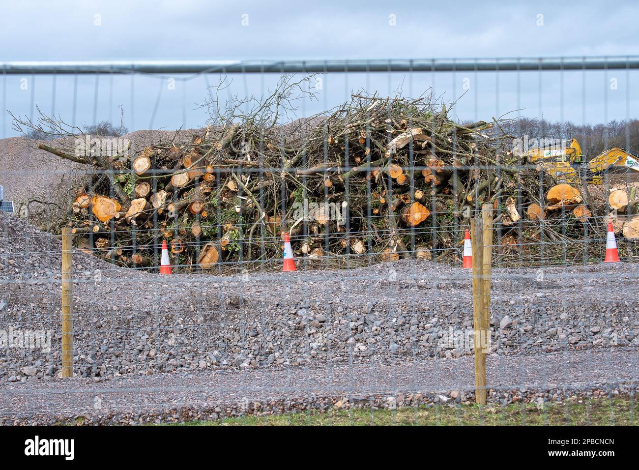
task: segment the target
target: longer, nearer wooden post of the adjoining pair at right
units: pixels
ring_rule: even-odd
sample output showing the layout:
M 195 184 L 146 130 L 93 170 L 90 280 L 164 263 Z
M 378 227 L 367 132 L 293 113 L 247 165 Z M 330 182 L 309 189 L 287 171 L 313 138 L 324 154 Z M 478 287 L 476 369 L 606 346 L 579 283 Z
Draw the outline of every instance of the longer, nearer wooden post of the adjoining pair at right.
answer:
M 475 330 L 475 402 L 486 404 L 486 354 L 482 348 L 484 329 L 484 221 L 472 219 L 473 247 L 473 329 Z

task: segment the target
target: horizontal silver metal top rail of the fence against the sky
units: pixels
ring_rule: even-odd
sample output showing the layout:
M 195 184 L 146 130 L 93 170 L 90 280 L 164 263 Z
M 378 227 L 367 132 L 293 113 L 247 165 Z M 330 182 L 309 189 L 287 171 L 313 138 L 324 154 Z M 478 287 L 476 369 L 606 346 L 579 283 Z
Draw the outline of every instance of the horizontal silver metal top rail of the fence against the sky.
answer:
M 256 74 L 282 72 L 496 72 L 509 70 L 604 70 L 639 68 L 639 56 L 502 58 L 502 59 L 371 59 L 310 61 L 7 61 L 4 74 Z

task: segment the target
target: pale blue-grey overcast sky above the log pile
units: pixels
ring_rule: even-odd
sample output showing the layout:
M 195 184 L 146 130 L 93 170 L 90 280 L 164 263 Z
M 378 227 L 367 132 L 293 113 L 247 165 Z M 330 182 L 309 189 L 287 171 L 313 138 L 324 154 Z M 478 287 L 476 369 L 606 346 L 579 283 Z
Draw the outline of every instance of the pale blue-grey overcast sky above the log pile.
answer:
M 556 57 L 639 51 L 639 6 L 632 1 L 458 0 L 419 6 L 396 1 L 6 1 L 2 16 L 3 61 Z M 387 94 L 403 83 L 404 93 L 412 95 L 433 86 L 438 95 L 453 100 L 467 79 L 470 90 L 456 108 L 463 119 L 491 118 L 517 107 L 523 108 L 518 115 L 577 123 L 637 117 L 637 72 L 539 75 L 416 73 L 409 80 L 404 73 L 336 74 L 326 78 L 319 102 L 305 103 L 300 114 L 332 107 L 366 84 L 370 91 Z M 26 90 L 21 79 L 26 79 Z M 259 95 L 276 79 L 235 76 L 232 91 Z M 72 76 L 54 82 L 45 75 L 9 75 L 3 80 L 3 104 L 14 114 L 27 115 L 38 105 L 45 113 L 75 118 L 79 125 L 115 120 L 119 105 L 129 129 L 203 125 L 206 115 L 195 104 L 206 93 L 204 77 L 178 80 L 175 90 L 165 82 L 144 76 L 132 83 L 130 77 L 85 75 L 76 83 Z M 1 124 L 4 136 L 15 135 L 6 118 Z

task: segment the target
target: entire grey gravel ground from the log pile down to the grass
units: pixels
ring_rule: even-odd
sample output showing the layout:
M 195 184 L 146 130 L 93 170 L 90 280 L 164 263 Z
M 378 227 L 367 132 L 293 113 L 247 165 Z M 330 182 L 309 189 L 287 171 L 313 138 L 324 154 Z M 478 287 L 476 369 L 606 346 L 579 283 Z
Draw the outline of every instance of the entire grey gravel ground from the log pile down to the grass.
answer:
M 50 350 L 0 349 L 6 424 L 79 414 L 90 423 L 216 419 L 472 395 L 472 276 L 423 261 L 169 277 L 75 253 L 75 378 L 58 379 L 59 240 L 6 214 L 0 233 L 0 334 L 51 332 Z M 638 276 L 634 263 L 494 269 L 489 399 L 633 390 Z

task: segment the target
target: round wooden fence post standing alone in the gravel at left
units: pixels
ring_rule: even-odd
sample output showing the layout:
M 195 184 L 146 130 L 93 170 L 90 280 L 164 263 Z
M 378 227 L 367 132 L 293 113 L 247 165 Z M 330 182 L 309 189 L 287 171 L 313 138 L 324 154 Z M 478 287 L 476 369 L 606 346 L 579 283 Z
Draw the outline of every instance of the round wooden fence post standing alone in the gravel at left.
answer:
M 73 377 L 73 242 L 62 229 L 62 377 Z

